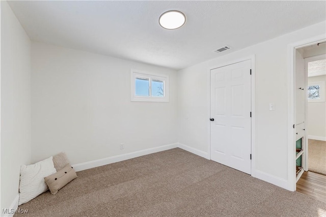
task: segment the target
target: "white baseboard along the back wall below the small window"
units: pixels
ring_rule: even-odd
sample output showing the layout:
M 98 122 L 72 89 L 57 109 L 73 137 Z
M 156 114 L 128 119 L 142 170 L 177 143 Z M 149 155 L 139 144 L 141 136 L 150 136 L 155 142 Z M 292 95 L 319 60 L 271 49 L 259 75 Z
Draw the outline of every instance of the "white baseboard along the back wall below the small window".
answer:
M 82 170 L 87 170 L 87 169 L 91 169 L 94 167 L 100 167 L 103 165 L 112 164 L 114 162 L 119 162 L 122 160 L 128 160 L 131 158 L 156 153 L 159 151 L 166 151 L 166 150 L 177 148 L 177 147 L 178 147 L 178 143 L 174 143 L 174 144 L 170 144 L 170 145 L 163 145 L 163 146 L 149 148 L 149 149 L 145 149 L 145 150 L 141 150 L 141 151 L 135 151 L 135 152 L 121 154 L 121 155 L 117 155 L 117 156 L 106 157 L 103 159 L 92 160 L 92 161 L 84 162 L 81 164 L 75 164 L 75 165 L 72 165 L 72 167 L 75 171 L 82 171 Z

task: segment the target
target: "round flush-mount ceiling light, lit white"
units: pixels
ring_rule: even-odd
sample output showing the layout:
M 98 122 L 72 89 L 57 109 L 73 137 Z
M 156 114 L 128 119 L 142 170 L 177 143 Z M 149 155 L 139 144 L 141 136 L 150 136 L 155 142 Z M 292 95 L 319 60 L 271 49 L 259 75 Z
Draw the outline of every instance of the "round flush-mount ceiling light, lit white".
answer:
M 185 16 L 180 11 L 167 11 L 159 16 L 158 22 L 164 29 L 175 30 L 185 23 Z

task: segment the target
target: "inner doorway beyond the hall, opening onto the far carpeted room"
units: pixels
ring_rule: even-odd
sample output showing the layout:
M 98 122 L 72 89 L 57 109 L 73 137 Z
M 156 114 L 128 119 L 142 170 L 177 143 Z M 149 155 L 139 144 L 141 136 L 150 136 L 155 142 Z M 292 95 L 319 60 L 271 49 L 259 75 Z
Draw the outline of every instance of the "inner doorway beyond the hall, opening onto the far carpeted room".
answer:
M 304 58 L 308 75 L 308 170 L 326 175 L 326 43 L 306 48 Z

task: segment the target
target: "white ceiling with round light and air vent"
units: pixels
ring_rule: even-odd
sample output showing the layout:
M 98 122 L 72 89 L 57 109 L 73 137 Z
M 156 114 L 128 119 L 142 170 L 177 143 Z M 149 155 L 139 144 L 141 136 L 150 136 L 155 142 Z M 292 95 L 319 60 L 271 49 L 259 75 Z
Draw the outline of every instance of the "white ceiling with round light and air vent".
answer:
M 31 40 L 182 69 L 326 20 L 325 1 L 12 1 Z M 158 17 L 180 10 L 165 30 Z M 222 46 L 233 49 L 212 52 Z

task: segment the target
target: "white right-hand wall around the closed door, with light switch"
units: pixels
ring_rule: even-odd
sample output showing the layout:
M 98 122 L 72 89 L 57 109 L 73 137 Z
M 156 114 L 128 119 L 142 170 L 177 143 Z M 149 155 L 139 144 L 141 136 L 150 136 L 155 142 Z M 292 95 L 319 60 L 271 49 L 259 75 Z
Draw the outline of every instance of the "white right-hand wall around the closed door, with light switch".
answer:
M 208 152 L 208 70 L 239 58 L 256 57 L 256 176 L 287 187 L 288 179 L 288 44 L 325 34 L 325 22 L 244 48 L 178 72 L 179 142 Z M 232 45 L 230 45 L 232 46 Z M 269 111 L 270 102 L 275 111 Z

